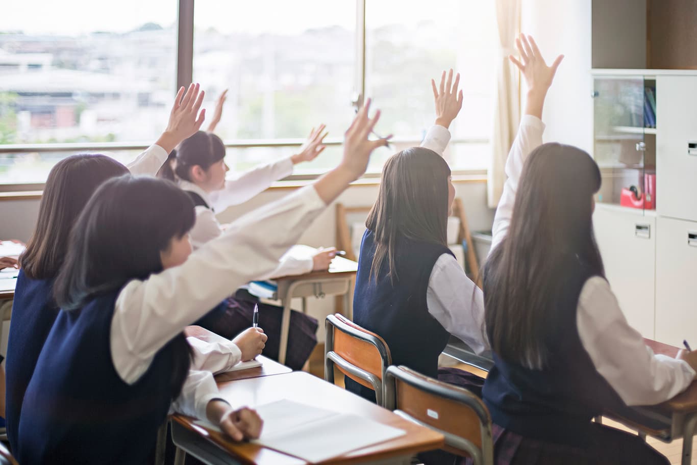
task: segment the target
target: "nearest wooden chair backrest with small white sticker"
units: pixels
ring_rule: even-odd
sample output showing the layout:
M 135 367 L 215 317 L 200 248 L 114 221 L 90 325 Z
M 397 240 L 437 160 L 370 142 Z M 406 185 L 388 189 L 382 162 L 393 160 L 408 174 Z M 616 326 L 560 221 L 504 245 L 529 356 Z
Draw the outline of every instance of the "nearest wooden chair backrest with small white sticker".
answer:
M 392 365 L 385 373 L 385 407 L 445 436 L 445 450 L 493 465 L 491 416 L 470 391 Z

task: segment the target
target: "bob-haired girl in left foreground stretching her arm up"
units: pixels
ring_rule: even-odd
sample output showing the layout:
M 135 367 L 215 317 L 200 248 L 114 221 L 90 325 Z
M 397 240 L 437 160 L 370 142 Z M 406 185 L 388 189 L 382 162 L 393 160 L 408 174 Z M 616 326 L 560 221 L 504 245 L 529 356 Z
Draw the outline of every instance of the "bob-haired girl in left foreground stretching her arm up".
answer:
M 61 311 L 26 389 L 19 462 L 146 461 L 170 403 L 188 394 L 183 329 L 231 286 L 273 271 L 302 230 L 365 172 L 372 150 L 386 142 L 367 139 L 379 118 L 368 111 L 369 103 L 346 132 L 337 168 L 194 253 L 192 202 L 176 185 L 130 177 L 102 184 L 56 279 Z M 195 407 L 233 439 L 259 435 L 254 411 L 215 398 Z

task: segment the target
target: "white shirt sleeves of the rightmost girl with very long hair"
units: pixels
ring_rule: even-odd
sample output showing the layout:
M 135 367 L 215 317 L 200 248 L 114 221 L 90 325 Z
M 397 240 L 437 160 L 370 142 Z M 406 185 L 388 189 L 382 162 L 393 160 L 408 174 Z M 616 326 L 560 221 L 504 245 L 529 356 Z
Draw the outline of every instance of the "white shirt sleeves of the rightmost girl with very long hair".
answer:
M 506 161 L 507 181 L 493 222 L 491 250 L 506 236 L 525 160 L 542 145 L 544 123 L 525 115 Z M 664 402 L 684 391 L 695 372 L 682 360 L 655 355 L 629 326 L 608 282 L 585 281 L 576 308 L 576 328 L 595 369 L 628 405 Z

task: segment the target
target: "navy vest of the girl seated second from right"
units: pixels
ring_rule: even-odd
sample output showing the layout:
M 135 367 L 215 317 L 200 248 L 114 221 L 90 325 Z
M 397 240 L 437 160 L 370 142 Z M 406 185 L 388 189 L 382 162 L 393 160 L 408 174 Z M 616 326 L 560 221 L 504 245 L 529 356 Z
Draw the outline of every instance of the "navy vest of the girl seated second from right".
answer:
M 400 239 L 395 254 L 398 279 L 388 276 L 387 262 L 370 277 L 375 255 L 374 233 L 366 230 L 360 245 L 353 294 L 353 321 L 381 336 L 392 354 L 392 365 L 438 377 L 438 355 L 450 333 L 429 313 L 426 294 L 438 257 L 452 252 L 445 246 Z M 346 389 L 375 402 L 375 393 L 346 378 Z

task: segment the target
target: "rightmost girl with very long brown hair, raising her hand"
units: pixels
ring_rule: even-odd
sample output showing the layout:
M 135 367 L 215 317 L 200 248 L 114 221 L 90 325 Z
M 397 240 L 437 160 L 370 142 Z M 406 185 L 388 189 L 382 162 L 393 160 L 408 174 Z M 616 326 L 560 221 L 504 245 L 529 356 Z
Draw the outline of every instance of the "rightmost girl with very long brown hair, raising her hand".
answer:
M 593 235 L 600 171 L 588 153 L 542 144 L 547 66 L 533 38 L 510 57 L 528 84 L 525 115 L 484 265 L 495 366 L 484 402 L 498 464 L 667 464 L 634 434 L 592 423 L 607 408 L 658 404 L 695 379 L 697 353 L 654 355 L 627 324 Z

